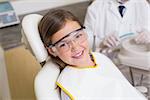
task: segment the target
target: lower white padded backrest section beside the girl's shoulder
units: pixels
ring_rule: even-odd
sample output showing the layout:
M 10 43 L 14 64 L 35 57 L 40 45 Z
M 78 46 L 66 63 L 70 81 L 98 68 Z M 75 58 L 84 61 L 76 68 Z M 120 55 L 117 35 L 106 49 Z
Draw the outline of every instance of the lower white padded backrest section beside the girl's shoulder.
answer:
M 58 65 L 52 61 L 43 66 L 34 81 L 37 100 L 60 100 L 59 88 L 56 85 L 59 73 Z

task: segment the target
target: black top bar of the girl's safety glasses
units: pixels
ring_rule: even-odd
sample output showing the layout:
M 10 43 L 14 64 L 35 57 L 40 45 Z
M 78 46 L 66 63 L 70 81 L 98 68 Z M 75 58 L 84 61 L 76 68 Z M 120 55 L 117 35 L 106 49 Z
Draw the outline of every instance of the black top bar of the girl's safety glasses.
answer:
M 56 41 L 55 43 L 49 44 L 49 45 L 48 45 L 48 48 L 54 47 L 56 44 L 58 44 L 59 42 L 61 42 L 64 38 L 70 36 L 72 33 L 78 32 L 78 31 L 80 31 L 80 30 L 82 30 L 82 29 L 85 29 L 85 26 L 81 26 L 81 28 L 79 28 L 79 29 L 77 29 L 77 30 L 74 30 L 74 31 L 68 33 L 66 36 L 62 37 L 61 39 L 59 39 L 59 40 Z

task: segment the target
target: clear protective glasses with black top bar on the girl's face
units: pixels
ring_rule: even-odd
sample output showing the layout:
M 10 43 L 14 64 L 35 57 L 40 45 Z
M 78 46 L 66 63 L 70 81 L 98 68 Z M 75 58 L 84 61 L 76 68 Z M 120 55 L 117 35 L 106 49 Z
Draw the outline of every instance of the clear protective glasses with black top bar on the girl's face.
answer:
M 71 48 L 72 42 L 80 44 L 87 39 L 84 29 L 85 27 L 81 27 L 73 32 L 70 32 L 57 42 L 50 44 L 48 47 L 55 47 L 58 51 L 67 52 Z

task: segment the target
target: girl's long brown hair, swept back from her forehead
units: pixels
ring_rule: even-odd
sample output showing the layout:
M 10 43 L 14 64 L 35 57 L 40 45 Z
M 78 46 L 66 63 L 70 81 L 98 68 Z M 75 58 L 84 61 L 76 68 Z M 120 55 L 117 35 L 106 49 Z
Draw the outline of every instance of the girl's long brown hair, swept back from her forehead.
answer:
M 76 21 L 80 26 L 82 26 L 78 18 L 66 10 L 57 9 L 49 11 L 44 15 L 39 23 L 38 28 L 41 39 L 45 46 L 48 47 L 49 44 L 52 43 L 52 35 L 62 29 L 65 26 L 67 20 Z M 51 56 L 52 60 L 61 67 L 66 65 L 59 57 L 54 57 L 51 54 L 49 55 Z

